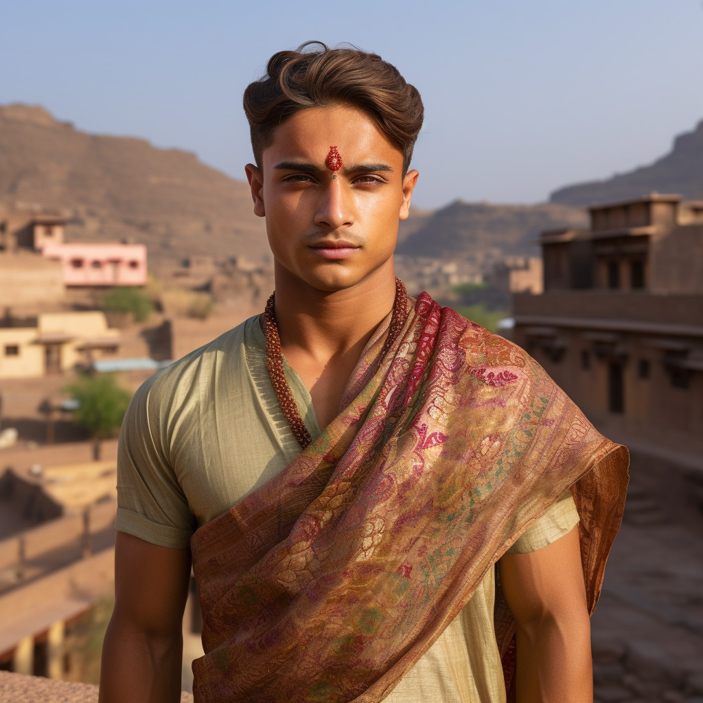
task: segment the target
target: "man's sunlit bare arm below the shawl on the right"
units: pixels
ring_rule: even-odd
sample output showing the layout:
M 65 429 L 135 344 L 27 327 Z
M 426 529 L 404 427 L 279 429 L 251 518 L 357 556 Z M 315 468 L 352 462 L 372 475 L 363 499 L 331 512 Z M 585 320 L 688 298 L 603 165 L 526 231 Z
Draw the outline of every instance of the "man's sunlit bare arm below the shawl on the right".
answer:
M 591 623 L 579 530 L 500 561 L 505 600 L 517 624 L 518 703 L 592 703 Z

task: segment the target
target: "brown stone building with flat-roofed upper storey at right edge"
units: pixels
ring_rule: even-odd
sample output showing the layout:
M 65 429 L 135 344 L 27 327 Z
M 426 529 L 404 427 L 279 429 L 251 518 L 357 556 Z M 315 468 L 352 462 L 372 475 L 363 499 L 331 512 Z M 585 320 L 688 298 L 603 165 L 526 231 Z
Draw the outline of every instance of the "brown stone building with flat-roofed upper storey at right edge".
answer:
M 513 297 L 512 338 L 597 424 L 703 449 L 703 202 L 651 193 L 546 231 L 542 295 Z

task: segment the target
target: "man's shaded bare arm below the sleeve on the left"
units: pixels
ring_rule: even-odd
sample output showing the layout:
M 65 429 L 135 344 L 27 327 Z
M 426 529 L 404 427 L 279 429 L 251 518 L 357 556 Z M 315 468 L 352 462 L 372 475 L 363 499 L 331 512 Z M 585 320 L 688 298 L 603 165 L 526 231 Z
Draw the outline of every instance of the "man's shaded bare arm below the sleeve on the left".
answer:
M 180 701 L 190 575 L 190 550 L 117 533 L 115 610 L 103 644 L 100 703 Z

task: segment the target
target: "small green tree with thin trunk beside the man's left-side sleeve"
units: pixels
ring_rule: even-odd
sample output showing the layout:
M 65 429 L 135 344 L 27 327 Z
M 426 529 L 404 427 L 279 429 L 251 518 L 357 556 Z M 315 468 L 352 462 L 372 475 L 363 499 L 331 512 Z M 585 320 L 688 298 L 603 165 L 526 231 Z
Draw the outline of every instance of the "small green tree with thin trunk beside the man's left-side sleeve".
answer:
M 73 411 L 75 423 L 90 432 L 93 439 L 93 459 L 101 455 L 102 439 L 114 437 L 120 430 L 131 395 L 117 385 L 114 376 L 81 375 L 65 390 L 78 402 Z

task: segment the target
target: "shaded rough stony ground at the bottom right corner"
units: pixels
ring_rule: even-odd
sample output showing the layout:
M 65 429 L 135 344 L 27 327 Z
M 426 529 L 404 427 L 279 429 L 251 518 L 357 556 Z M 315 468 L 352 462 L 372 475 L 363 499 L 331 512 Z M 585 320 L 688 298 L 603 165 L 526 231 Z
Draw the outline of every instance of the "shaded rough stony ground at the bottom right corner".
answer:
M 703 703 L 703 513 L 685 490 L 663 501 L 647 463 L 633 454 L 591 621 L 595 703 Z

